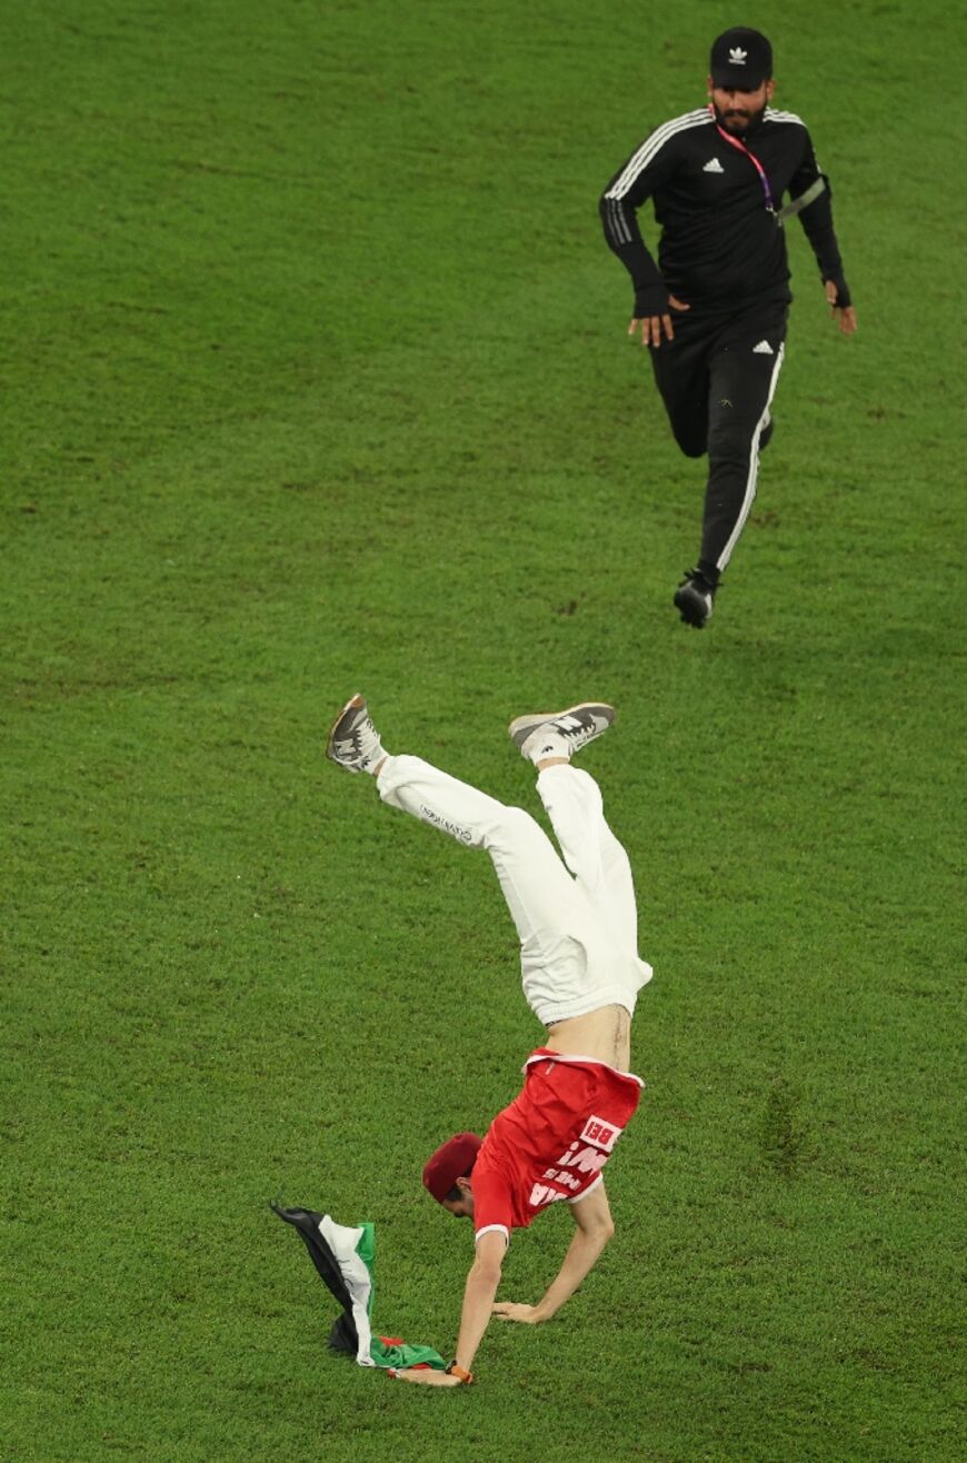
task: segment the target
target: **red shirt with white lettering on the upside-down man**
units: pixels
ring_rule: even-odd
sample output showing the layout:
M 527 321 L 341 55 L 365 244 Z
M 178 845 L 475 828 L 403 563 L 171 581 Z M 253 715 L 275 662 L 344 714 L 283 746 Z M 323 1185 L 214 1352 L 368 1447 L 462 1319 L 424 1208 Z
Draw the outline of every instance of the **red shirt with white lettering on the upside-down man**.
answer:
M 474 1229 L 524 1229 L 556 1200 L 600 1182 L 644 1083 L 591 1056 L 538 1048 L 524 1064 L 524 1090 L 499 1112 L 474 1163 Z

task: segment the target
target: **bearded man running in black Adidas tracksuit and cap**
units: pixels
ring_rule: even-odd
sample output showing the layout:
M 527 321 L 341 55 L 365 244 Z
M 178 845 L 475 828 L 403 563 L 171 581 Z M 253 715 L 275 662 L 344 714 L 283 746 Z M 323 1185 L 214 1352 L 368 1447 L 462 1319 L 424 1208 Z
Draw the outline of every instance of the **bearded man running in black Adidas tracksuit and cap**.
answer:
M 696 629 L 712 613 L 772 430 L 791 300 L 784 217 L 799 214 L 831 313 L 846 335 L 856 329 L 829 183 L 805 124 L 775 111 L 772 92 L 765 37 L 726 31 L 712 45 L 710 105 L 657 127 L 601 199 L 606 238 L 635 287 L 628 334 L 651 348 L 682 451 L 708 452 L 701 554 L 674 595 Z M 786 193 L 791 205 L 780 209 Z M 648 198 L 661 225 L 657 265 L 636 219 Z

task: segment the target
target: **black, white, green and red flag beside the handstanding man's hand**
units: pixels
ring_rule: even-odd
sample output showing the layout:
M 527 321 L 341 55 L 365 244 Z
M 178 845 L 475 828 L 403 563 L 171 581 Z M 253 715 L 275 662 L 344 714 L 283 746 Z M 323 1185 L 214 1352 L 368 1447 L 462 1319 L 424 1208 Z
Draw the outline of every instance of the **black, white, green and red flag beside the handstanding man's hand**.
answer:
M 405 1346 L 395 1337 L 373 1334 L 373 1225 L 336 1225 L 329 1214 L 310 1208 L 279 1208 L 278 1204 L 271 1208 L 298 1230 L 323 1285 L 342 1309 L 329 1333 L 334 1350 L 354 1355 L 360 1366 L 446 1369 L 440 1353 L 430 1346 Z

